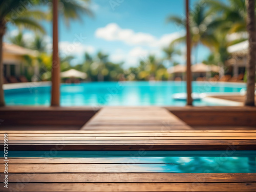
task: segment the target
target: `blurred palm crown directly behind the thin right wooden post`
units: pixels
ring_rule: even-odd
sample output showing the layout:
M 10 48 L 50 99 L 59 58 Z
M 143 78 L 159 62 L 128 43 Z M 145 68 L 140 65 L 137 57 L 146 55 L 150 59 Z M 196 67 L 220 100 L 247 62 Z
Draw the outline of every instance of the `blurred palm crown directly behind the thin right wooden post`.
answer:
M 212 48 L 216 44 L 216 39 L 214 36 L 214 29 L 216 27 L 216 20 L 212 19 L 213 15 L 210 11 L 207 11 L 206 7 L 195 5 L 197 9 L 190 11 L 189 25 L 191 32 L 191 46 L 197 47 L 199 44 L 202 44 L 208 48 Z M 185 29 L 186 20 L 183 17 L 179 16 L 169 16 L 166 21 L 168 23 L 175 23 L 177 26 L 181 26 Z M 181 36 L 174 40 L 172 44 L 177 42 L 186 42 L 186 35 Z M 196 62 L 197 62 L 198 53 L 196 53 Z

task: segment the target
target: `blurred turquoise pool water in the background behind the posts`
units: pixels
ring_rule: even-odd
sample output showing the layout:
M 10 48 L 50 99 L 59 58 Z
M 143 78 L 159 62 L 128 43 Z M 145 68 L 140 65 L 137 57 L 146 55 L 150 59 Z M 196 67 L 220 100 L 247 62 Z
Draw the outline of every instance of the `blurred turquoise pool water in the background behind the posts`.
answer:
M 194 93 L 239 93 L 244 83 L 193 82 Z M 18 89 L 6 89 L 7 105 L 50 105 L 50 86 L 38 82 Z M 185 82 L 174 81 L 129 81 L 129 82 L 87 82 L 61 84 L 61 105 L 170 105 L 183 106 L 185 100 L 173 99 L 173 94 L 185 93 Z M 195 105 L 223 105 L 216 101 L 202 99 Z

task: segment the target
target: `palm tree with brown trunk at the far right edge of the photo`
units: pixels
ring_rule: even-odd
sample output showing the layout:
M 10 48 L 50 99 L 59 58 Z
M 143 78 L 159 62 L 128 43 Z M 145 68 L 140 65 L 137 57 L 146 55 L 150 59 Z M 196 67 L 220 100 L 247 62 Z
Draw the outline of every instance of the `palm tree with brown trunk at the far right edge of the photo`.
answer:
M 255 105 L 255 3 L 254 0 L 229 0 L 229 4 L 217 0 L 206 0 L 210 10 L 222 14 L 221 28 L 228 33 L 245 32 L 249 34 L 249 50 L 247 63 L 247 93 L 245 105 Z M 241 39 L 244 40 L 244 39 Z

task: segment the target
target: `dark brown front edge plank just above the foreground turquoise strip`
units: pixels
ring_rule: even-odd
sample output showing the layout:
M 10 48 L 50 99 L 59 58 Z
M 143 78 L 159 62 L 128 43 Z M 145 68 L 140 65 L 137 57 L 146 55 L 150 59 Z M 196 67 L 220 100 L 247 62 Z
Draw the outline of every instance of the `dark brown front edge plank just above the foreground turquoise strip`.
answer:
M 207 140 L 206 140 L 207 141 Z M 9 149 L 14 151 L 49 151 L 49 150 L 67 150 L 67 151 L 195 151 L 195 150 L 227 150 L 234 148 L 235 150 L 255 150 L 256 143 L 255 142 L 246 142 L 246 144 L 241 143 L 207 143 L 204 144 L 202 142 L 196 144 L 155 144 L 147 143 L 147 144 L 136 144 L 136 143 L 103 143 L 103 144 L 92 144 L 92 143 L 16 143 L 9 144 Z

